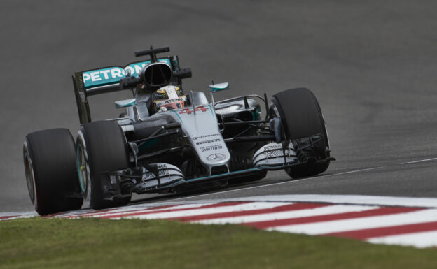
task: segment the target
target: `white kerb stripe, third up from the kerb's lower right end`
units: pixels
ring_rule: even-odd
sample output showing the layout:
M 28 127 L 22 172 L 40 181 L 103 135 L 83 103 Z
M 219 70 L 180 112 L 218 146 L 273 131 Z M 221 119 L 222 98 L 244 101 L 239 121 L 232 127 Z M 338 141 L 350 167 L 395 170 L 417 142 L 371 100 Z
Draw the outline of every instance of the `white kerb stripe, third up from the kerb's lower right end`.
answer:
M 323 208 L 313 208 L 304 210 L 290 210 L 284 212 L 272 212 L 258 215 L 247 215 L 240 217 L 224 217 L 219 219 L 205 219 L 202 221 L 192 221 L 200 224 L 242 224 L 255 221 L 270 221 L 275 219 L 291 219 L 297 217 L 312 217 L 329 214 L 339 214 L 347 212 L 360 212 L 376 209 L 375 206 L 362 205 L 328 205 Z

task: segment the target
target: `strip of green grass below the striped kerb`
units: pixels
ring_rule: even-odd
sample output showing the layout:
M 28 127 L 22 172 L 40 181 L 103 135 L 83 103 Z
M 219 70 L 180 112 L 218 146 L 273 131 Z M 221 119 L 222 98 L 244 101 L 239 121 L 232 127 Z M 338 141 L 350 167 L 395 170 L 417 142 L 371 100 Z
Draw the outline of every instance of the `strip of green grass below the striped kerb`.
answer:
M 176 221 L 0 222 L 0 268 L 437 268 L 437 249 Z

